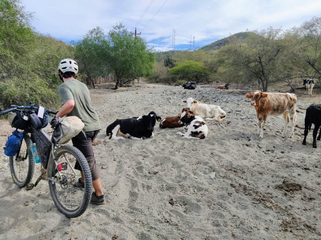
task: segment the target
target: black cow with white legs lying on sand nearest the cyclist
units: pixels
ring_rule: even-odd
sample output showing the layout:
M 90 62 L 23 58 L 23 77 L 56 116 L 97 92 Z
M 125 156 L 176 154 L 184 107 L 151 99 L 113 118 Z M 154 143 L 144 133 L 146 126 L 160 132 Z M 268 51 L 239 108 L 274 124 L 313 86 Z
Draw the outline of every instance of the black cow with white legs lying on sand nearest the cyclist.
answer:
M 155 112 L 150 112 L 148 115 L 117 119 L 110 124 L 106 129 L 109 139 L 145 139 L 154 137 L 154 126 L 161 118 Z

